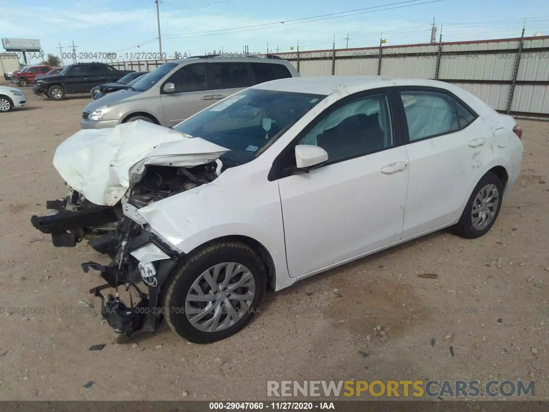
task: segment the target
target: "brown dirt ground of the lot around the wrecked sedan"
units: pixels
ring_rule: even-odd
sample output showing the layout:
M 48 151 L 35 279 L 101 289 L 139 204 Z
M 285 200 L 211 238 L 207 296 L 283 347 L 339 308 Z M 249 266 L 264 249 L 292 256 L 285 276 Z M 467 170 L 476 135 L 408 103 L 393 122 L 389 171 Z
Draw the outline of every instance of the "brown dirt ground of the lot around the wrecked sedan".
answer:
M 119 344 L 88 293 L 103 282 L 80 269 L 107 260 L 54 248 L 30 223 L 64 194 L 53 154 L 89 98 L 24 91 L 29 105 L 0 115 L 0 399 L 252 400 L 266 380 L 490 378 L 534 379 L 549 399 L 549 123 L 519 121 L 523 171 L 484 237 L 440 231 L 299 282 L 222 342 L 163 325 Z

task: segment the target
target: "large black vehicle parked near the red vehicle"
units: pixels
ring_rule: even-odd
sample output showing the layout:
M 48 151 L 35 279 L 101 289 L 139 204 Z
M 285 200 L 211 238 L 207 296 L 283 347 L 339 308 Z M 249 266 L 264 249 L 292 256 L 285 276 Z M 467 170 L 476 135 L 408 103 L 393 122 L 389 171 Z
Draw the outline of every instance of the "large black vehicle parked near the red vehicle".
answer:
M 37 96 L 63 100 L 66 94 L 87 93 L 92 87 L 121 79 L 133 70 L 117 70 L 105 63 L 76 63 L 57 75 L 42 77 L 32 87 Z

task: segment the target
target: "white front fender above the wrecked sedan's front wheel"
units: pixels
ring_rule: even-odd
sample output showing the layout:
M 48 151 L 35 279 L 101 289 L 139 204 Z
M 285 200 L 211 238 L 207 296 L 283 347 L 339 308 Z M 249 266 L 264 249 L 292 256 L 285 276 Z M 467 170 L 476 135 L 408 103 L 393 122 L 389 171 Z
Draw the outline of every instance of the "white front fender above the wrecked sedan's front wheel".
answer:
M 251 163 L 228 169 L 207 185 L 150 204 L 138 213 L 153 232 L 186 254 L 220 237 L 253 238 L 271 254 L 276 289 L 280 289 L 292 282 L 284 283 L 289 276 L 278 181 L 269 182 L 265 170 L 242 176 L 238 169 Z

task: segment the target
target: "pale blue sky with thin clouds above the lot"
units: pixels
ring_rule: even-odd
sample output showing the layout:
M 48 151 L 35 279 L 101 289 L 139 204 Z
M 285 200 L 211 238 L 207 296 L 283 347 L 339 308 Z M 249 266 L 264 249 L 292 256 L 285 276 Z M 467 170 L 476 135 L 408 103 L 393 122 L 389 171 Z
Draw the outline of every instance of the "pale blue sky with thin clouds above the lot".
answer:
M 379 43 L 381 31 L 387 46 L 424 43 L 433 18 L 439 29 L 444 24 L 443 41 L 518 37 L 525 18 L 527 36 L 549 35 L 548 1 L 402 1 L 161 1 L 163 51 L 168 58 L 174 52 L 203 54 L 221 48 L 238 53 L 247 44 L 249 52 L 265 53 L 267 42 L 272 52 L 277 47 L 289 51 L 298 42 L 306 51 L 332 48 L 334 35 L 335 47 L 341 48 L 347 34 L 349 47 L 368 47 Z M 59 42 L 63 52 L 69 52 L 73 40 L 77 53 L 116 52 L 127 59 L 131 53 L 158 52 L 154 0 L 47 0 L 25 8 L 17 4 L 0 0 L 0 37 L 39 38 L 45 53 L 59 54 Z M 376 6 L 382 7 L 305 19 Z

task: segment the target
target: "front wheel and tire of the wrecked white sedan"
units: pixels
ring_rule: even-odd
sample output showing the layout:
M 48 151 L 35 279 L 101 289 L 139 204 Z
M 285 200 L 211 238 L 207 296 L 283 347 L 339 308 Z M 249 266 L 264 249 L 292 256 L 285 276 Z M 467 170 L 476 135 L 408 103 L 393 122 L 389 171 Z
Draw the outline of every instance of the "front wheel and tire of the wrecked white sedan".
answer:
M 230 266 L 233 264 L 241 266 Z M 223 268 L 223 265 L 227 266 Z M 244 267 L 247 270 L 233 269 L 238 267 Z M 206 271 L 210 276 L 215 277 L 214 268 L 221 268 L 217 274 L 217 282 L 215 282 L 217 284 L 223 285 L 223 281 L 227 280 L 227 271 L 234 270 L 236 274 L 229 278 L 233 280 L 228 284 L 229 289 L 216 291 L 215 299 L 212 298 L 214 293 L 211 291 L 210 283 L 203 278 Z M 244 282 L 245 286 L 230 288 L 231 285 L 239 282 Z M 193 288 L 195 283 L 198 286 L 195 285 Z M 193 296 L 199 296 L 197 287 L 209 296 L 209 302 L 198 302 L 192 299 Z M 171 330 L 190 342 L 212 343 L 234 335 L 248 325 L 265 297 L 267 274 L 263 262 L 249 246 L 240 242 L 220 242 L 199 250 L 185 261 L 166 282 L 165 288 L 163 314 Z M 234 298 L 235 291 L 241 296 L 244 296 L 244 293 L 250 295 L 253 291 L 253 296 L 248 296 L 251 303 L 250 300 L 248 300 L 249 303 L 242 303 L 241 300 L 230 299 L 231 296 Z M 193 293 L 189 294 L 189 292 Z M 191 302 L 187 302 L 188 297 L 191 297 Z M 232 310 L 227 308 L 227 303 L 231 305 Z M 212 309 L 198 319 L 198 322 L 206 322 L 205 326 L 201 325 L 203 330 L 200 330 L 200 325 L 194 326 L 188 316 L 192 317 L 197 310 L 202 311 L 207 307 Z M 233 315 L 230 319 L 229 313 Z M 214 319 L 216 316 L 217 322 Z M 217 324 L 216 331 L 204 330 L 212 327 L 212 324 L 207 324 L 208 321 Z

